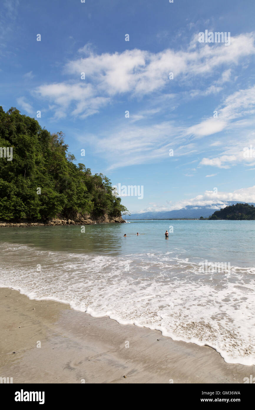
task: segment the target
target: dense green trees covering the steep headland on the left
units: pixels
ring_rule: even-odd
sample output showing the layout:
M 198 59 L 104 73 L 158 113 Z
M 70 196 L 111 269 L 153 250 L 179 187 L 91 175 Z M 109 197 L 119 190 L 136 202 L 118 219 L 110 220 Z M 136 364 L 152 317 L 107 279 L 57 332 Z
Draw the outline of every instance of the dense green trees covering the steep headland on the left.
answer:
M 0 107 L 0 147 L 13 147 L 13 159 L 0 158 L 0 220 L 47 221 L 54 217 L 98 217 L 126 213 L 103 174 L 75 165 L 62 132 L 50 134 L 16 108 Z M 41 188 L 41 194 L 37 194 Z

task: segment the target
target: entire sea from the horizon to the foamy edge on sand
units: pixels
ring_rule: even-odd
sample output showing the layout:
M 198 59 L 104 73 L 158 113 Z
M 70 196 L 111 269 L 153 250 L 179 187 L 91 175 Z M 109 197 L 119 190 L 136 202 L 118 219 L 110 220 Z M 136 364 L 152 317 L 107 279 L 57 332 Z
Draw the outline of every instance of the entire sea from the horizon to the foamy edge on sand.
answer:
M 2 228 L 0 258 L 0 287 L 255 364 L 255 221 Z

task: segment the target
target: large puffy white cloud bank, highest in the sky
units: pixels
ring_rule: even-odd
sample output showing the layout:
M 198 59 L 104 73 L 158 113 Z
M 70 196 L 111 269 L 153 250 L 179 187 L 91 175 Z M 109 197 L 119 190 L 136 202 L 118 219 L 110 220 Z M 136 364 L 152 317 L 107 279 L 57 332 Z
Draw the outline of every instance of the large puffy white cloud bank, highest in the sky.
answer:
M 187 51 L 166 49 L 158 53 L 146 50 L 125 50 L 124 52 L 96 54 L 91 44 L 78 50 L 79 57 L 65 64 L 63 73 L 73 75 L 72 84 L 43 84 L 36 89 L 37 96 L 47 98 L 56 107 L 56 116 L 66 115 L 74 105 L 73 116 L 85 118 L 95 114 L 113 98 L 129 93 L 141 98 L 155 92 L 169 92 L 169 72 L 179 84 L 190 83 L 197 78 L 212 77 L 215 70 L 224 64 L 238 64 L 242 58 L 255 53 L 253 33 L 231 37 L 231 47 L 219 44 L 201 47 L 200 43 Z M 86 74 L 86 84 L 81 84 L 81 73 Z M 221 90 L 220 85 L 228 81 L 230 71 L 225 70 L 217 81 L 201 91 L 210 95 Z M 79 80 L 78 80 L 79 79 Z M 64 89 L 60 96 L 59 90 Z M 196 94 L 196 92 L 194 91 Z M 81 96 L 82 94 L 82 96 Z M 90 102 L 93 108 L 90 109 Z M 220 125 L 218 125 L 220 128 Z

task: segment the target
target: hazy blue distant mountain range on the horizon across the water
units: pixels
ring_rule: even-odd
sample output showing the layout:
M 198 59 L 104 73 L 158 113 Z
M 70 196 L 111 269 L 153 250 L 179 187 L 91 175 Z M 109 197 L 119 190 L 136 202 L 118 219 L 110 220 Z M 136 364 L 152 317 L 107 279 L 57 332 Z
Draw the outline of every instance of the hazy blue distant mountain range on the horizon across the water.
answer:
M 240 201 L 224 201 L 225 205 L 235 205 L 237 203 L 245 203 Z M 255 203 L 249 203 L 249 205 L 255 205 Z M 215 211 L 220 210 L 222 205 L 220 204 L 213 204 L 211 207 L 208 206 L 193 206 L 188 205 L 185 208 L 180 210 L 174 211 L 161 211 L 161 212 L 144 212 L 142 214 L 131 214 L 131 215 L 124 215 L 123 219 L 179 219 L 179 218 L 208 218 L 208 216 L 212 215 Z

